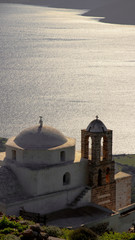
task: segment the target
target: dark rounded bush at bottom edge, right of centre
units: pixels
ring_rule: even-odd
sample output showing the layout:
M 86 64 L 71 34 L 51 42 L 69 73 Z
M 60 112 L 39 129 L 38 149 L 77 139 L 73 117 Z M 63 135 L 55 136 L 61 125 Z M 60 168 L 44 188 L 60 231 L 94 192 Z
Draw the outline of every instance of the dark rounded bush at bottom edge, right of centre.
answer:
M 69 234 L 69 240 L 96 240 L 97 235 L 86 227 L 81 227 Z

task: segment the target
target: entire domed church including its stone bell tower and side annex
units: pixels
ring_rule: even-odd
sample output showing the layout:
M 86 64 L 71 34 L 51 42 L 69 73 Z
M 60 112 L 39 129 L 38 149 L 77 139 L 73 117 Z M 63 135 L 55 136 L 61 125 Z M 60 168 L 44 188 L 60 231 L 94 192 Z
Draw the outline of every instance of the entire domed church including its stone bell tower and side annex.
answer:
M 98 117 L 81 130 L 81 152 L 75 139 L 43 125 L 42 117 L 8 139 L 0 167 L 1 212 L 48 214 L 91 203 L 113 211 L 131 204 L 131 175 L 115 174 L 112 130 Z

